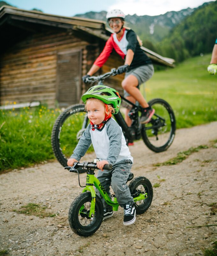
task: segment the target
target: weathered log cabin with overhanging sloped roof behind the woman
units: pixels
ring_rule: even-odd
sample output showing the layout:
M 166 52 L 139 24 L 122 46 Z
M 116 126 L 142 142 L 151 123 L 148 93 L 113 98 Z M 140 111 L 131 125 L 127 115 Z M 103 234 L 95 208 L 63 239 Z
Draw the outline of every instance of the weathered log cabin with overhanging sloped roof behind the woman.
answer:
M 0 9 L 0 105 L 38 100 L 49 107 L 67 107 L 80 101 L 87 73 L 111 31 L 99 20 L 63 17 L 11 6 Z M 143 47 L 153 62 L 173 66 Z M 99 71 L 123 65 L 113 52 Z M 123 75 L 108 84 L 122 92 Z

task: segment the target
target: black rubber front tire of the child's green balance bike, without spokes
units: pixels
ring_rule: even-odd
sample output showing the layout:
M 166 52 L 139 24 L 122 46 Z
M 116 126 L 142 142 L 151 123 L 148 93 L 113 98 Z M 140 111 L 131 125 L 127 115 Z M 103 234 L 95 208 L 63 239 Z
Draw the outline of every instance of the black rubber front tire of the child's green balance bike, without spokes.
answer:
M 77 196 L 69 208 L 69 224 L 73 232 L 79 236 L 91 236 L 101 226 L 103 220 L 103 204 L 98 195 L 96 195 L 95 214 L 96 219 L 93 224 L 83 226 L 79 222 L 79 210 L 86 202 L 91 202 L 90 192 L 84 192 Z

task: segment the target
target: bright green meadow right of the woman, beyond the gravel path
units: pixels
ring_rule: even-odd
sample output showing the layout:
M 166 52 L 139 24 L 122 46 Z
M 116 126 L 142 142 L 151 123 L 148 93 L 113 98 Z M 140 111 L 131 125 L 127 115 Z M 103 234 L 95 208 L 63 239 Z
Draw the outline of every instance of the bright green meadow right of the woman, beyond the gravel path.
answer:
M 217 120 L 217 76 L 207 72 L 210 59 L 211 54 L 188 59 L 155 72 L 145 84 L 147 100 L 162 98 L 171 105 L 177 129 Z

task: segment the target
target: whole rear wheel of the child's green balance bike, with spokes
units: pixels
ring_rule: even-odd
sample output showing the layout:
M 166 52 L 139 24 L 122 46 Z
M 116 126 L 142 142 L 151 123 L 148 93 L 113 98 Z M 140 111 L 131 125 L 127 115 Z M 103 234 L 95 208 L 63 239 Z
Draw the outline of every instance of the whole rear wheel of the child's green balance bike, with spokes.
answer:
M 146 212 L 151 205 L 153 198 L 153 188 L 151 182 L 146 177 L 136 177 L 135 179 L 131 180 L 129 188 L 132 197 L 147 193 L 144 200 L 137 201 L 134 204 L 137 214 Z

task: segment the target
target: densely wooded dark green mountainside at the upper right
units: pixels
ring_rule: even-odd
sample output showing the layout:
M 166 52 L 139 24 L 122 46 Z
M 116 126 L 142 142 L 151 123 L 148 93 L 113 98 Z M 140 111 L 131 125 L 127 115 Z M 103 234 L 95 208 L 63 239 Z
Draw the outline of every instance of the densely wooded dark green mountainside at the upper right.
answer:
M 160 54 L 182 61 L 212 52 L 217 37 L 217 1 L 201 6 L 171 29 L 158 45 Z

